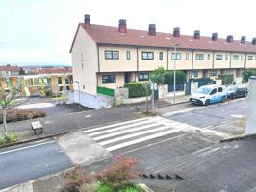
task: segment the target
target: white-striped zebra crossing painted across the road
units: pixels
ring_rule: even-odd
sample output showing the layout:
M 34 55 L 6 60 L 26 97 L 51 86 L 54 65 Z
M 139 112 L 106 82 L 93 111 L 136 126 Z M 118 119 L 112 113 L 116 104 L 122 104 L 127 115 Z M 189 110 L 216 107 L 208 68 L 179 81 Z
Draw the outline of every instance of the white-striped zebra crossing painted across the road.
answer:
M 146 117 L 84 131 L 107 151 L 113 152 L 135 144 L 172 137 L 173 133 L 184 133 L 173 128 L 169 120 L 163 117 Z

